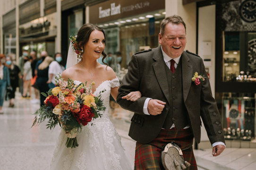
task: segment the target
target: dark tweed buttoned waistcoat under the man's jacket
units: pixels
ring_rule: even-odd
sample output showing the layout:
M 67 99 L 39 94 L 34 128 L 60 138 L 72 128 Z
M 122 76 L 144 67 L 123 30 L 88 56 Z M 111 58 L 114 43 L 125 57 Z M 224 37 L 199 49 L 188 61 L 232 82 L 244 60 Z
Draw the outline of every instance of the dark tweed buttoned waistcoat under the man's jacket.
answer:
M 166 66 L 167 81 L 170 93 L 170 109 L 163 124 L 164 129 L 170 129 L 171 125 L 180 130 L 188 125 L 188 111 L 183 99 L 182 86 L 182 63 L 179 64 L 174 73 Z

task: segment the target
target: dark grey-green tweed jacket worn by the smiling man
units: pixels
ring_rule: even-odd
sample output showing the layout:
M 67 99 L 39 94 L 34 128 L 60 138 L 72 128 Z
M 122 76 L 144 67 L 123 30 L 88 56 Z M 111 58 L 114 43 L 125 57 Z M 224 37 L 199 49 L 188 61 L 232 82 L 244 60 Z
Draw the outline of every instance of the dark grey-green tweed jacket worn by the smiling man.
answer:
M 189 126 L 193 131 L 196 143 L 200 143 L 201 119 L 205 125 L 211 144 L 217 141 L 224 142 L 221 117 L 213 99 L 208 77 L 205 77 L 200 85 L 195 85 L 191 80 L 195 72 L 198 75 L 206 75 L 202 58 L 196 54 L 184 51 L 181 55 L 182 85 L 185 107 L 188 110 Z M 164 67 L 161 46 L 144 52 L 134 54 L 128 65 L 128 73 L 123 77 L 117 96 L 118 104 L 125 109 L 134 112 L 131 120 L 129 136 L 140 142 L 148 143 L 155 139 L 170 108 L 170 92 L 168 88 L 167 74 Z M 142 97 L 137 101 L 121 99 L 130 92 L 140 91 Z M 166 105 L 162 114 L 153 116 L 143 113 L 146 98 L 162 100 Z

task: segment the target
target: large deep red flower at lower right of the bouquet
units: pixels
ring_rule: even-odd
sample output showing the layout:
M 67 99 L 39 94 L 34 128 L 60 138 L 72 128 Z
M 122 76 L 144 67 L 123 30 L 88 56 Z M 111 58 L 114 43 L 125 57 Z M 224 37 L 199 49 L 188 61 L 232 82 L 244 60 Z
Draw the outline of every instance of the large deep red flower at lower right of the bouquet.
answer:
M 91 108 L 89 108 L 86 105 L 81 106 L 80 112 L 77 113 L 77 122 L 79 124 L 83 124 L 84 126 L 88 124 L 88 122 L 92 121 L 92 118 L 94 117 L 94 113 L 92 112 Z

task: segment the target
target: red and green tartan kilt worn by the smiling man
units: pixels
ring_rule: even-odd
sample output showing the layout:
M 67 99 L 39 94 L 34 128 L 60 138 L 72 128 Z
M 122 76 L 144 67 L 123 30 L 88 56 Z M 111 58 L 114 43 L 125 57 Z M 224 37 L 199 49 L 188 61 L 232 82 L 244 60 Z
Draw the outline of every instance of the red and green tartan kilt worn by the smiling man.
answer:
M 190 128 L 175 130 L 162 129 L 158 136 L 150 143 L 141 144 L 136 142 L 135 152 L 135 170 L 161 170 L 159 165 L 159 157 L 161 149 L 165 144 L 174 142 L 182 150 L 185 161 L 191 165 L 187 170 L 197 170 L 196 159 L 193 153 L 193 133 Z

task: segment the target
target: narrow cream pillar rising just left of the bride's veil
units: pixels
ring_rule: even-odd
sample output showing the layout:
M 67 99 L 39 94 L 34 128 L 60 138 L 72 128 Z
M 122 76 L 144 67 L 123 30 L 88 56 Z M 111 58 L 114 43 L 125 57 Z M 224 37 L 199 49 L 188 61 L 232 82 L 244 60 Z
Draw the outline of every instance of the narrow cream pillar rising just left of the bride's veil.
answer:
M 56 25 L 55 53 L 61 52 L 61 0 L 56 0 Z

